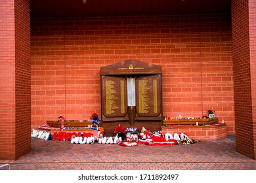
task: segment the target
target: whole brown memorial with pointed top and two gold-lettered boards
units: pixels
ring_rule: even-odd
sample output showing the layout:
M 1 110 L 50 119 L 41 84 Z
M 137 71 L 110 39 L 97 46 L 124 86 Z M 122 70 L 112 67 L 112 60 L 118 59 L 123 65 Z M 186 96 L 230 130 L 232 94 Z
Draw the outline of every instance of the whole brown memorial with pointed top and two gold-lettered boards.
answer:
M 160 130 L 161 66 L 133 59 L 100 68 L 102 127 L 110 135 L 117 125 Z

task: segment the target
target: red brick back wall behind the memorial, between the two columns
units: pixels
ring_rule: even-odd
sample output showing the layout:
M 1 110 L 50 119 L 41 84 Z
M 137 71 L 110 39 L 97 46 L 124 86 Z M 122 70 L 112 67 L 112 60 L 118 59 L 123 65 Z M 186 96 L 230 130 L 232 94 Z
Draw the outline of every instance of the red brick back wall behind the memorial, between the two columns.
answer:
M 32 20 L 32 127 L 100 113 L 100 67 L 161 65 L 163 114 L 213 109 L 234 134 L 230 14 Z

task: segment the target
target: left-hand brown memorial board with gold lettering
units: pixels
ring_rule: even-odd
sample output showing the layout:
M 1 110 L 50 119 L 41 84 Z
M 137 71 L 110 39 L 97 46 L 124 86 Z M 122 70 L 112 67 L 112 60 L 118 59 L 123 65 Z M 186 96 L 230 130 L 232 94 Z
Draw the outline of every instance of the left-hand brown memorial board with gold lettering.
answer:
M 125 77 L 102 76 L 102 118 L 127 114 L 127 80 Z

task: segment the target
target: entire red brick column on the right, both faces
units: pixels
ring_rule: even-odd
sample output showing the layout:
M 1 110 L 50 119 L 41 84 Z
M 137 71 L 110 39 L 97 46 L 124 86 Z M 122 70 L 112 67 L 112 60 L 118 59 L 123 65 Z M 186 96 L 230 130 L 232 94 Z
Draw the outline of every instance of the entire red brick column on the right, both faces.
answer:
M 232 0 L 236 150 L 256 159 L 256 0 Z

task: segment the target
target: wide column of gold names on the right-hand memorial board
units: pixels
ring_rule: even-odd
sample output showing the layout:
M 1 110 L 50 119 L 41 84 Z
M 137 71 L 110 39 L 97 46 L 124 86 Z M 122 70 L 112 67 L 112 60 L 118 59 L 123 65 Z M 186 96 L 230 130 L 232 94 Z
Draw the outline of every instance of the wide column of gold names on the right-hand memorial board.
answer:
M 150 99 L 148 97 L 148 90 L 150 88 L 148 86 L 147 80 L 139 80 L 139 113 L 148 113 L 149 112 L 149 106 L 148 106 L 148 100 Z

